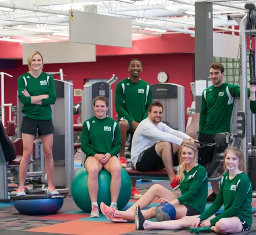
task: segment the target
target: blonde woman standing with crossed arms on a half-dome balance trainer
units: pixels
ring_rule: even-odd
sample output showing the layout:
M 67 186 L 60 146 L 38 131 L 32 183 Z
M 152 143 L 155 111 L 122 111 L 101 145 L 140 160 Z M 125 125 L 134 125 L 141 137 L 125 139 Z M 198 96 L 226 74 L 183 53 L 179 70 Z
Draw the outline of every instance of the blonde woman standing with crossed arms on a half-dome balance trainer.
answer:
M 51 104 L 55 104 L 56 92 L 54 78 L 52 75 L 42 72 L 44 66 L 40 52 L 30 52 L 27 59 L 29 72 L 17 79 L 18 97 L 22 102 L 22 132 L 23 155 L 20 161 L 19 179 L 20 185 L 17 189 L 17 196 L 26 196 L 24 183 L 27 176 L 27 169 L 33 151 L 35 136 L 40 136 L 42 150 L 45 158 L 45 171 L 47 173 L 48 189 L 47 194 L 59 194 L 52 185 L 54 172 L 54 160 L 52 158 L 52 144 L 54 142 L 54 124 L 52 123 Z

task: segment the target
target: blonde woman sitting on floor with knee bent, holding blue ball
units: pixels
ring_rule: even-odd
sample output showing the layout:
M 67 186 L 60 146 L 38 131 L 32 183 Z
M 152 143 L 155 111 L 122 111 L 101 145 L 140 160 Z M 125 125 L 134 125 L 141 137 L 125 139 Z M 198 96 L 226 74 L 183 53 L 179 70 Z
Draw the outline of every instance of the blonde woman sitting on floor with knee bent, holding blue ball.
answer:
M 207 201 L 208 177 L 205 168 L 197 164 L 197 147 L 193 142 L 184 143 L 180 147 L 180 162 L 182 164 L 178 176 L 182 196 L 177 197 L 169 189 L 155 184 L 127 211 L 117 211 L 101 203 L 102 213 L 112 222 L 127 222 L 134 220 L 134 210 L 138 205 L 145 208 L 158 197 L 160 203 L 170 203 L 175 207 L 175 219 L 202 214 Z M 155 218 L 156 209 L 157 207 L 152 207 L 141 212 L 146 219 L 152 219 Z

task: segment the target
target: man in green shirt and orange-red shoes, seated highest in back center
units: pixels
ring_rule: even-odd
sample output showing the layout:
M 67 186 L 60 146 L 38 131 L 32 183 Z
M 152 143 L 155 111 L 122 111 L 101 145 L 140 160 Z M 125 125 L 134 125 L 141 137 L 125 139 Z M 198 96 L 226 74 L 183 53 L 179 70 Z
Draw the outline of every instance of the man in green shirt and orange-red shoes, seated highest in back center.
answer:
M 143 70 L 139 59 L 132 59 L 128 71 L 130 77 L 116 84 L 115 108 L 118 113 L 118 122 L 121 132 L 122 149 L 120 150 L 120 164 L 126 168 L 125 147 L 127 134 L 131 139 L 138 124 L 148 117 L 148 107 L 153 102 L 151 85 L 140 78 Z M 129 150 L 131 149 L 131 141 Z M 133 180 L 134 198 L 140 198 L 141 194 L 135 188 L 136 180 Z

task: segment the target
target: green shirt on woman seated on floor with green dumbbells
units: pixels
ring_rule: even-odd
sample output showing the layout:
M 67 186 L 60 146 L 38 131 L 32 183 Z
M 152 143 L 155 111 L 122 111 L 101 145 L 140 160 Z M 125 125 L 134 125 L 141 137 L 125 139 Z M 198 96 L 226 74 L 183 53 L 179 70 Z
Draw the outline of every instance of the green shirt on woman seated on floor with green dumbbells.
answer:
M 222 218 L 237 216 L 246 221 L 251 226 L 253 222 L 251 201 L 253 199 L 253 189 L 251 181 L 246 173 L 237 174 L 232 180 L 229 179 L 229 172 L 224 173 L 221 179 L 221 186 L 214 201 L 202 215 L 201 220 L 208 219 L 214 215 L 224 204 L 224 211 L 211 219 L 211 225 L 214 226 Z

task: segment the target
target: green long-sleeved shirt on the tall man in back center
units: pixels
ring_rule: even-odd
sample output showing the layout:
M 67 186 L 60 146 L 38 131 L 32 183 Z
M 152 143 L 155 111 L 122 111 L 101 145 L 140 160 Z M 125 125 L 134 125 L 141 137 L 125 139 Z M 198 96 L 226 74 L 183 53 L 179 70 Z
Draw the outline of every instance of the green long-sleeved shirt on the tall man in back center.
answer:
M 141 122 L 148 117 L 148 106 L 153 102 L 151 85 L 140 79 L 138 83 L 130 78 L 116 84 L 115 107 L 118 119 Z

